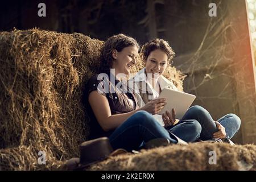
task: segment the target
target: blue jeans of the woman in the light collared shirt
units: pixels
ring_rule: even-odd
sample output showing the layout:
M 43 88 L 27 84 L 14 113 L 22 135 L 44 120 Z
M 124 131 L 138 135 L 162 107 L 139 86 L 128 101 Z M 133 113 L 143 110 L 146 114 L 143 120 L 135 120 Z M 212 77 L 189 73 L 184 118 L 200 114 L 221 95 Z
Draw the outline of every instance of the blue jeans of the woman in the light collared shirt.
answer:
M 181 121 L 185 119 L 196 119 L 202 127 L 200 139 L 209 140 L 218 131 L 210 113 L 201 106 L 192 106 L 185 113 Z M 241 119 L 236 114 L 227 114 L 218 119 L 218 122 L 225 127 L 226 136 L 231 139 L 240 129 Z

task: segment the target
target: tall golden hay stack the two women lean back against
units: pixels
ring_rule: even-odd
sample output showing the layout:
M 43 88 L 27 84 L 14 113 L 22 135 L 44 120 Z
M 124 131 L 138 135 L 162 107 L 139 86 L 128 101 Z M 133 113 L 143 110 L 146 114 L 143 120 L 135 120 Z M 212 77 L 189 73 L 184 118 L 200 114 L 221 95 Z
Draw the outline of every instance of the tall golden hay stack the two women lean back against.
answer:
M 100 65 L 102 44 L 36 28 L 0 32 L 0 169 L 58 169 L 79 156 L 89 134 L 82 89 Z M 167 75 L 182 89 L 179 71 Z M 39 151 L 46 165 L 38 164 Z

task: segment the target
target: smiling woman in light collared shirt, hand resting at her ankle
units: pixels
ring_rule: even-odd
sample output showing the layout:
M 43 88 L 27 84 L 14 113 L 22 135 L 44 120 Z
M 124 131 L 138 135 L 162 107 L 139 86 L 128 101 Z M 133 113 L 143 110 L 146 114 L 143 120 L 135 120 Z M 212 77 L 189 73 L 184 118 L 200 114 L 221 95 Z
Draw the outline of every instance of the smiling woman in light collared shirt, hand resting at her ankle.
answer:
M 139 107 L 143 107 L 158 98 L 164 88 L 177 90 L 171 81 L 162 76 L 175 56 L 175 52 L 168 42 L 163 39 L 153 39 L 144 44 L 142 53 L 146 66 L 132 79 L 139 88 Z M 142 85 L 146 85 L 144 86 L 146 90 L 142 89 Z M 185 123 L 191 122 L 191 119 L 198 121 L 201 125 L 200 137 L 197 138 L 200 140 L 212 140 L 213 142 L 222 142 L 223 140 L 233 144 L 230 139 L 240 129 L 241 120 L 236 114 L 227 114 L 218 121 L 214 121 L 206 109 L 197 105 L 190 107 L 184 117 L 174 125 L 174 109 L 167 110 L 163 115 L 158 115 L 158 120 L 162 121 L 168 131 L 175 133 L 177 137 L 187 142 L 195 138 L 192 139 L 190 135 L 186 134 L 186 130 L 181 130 L 181 127 L 177 126 L 185 125 Z

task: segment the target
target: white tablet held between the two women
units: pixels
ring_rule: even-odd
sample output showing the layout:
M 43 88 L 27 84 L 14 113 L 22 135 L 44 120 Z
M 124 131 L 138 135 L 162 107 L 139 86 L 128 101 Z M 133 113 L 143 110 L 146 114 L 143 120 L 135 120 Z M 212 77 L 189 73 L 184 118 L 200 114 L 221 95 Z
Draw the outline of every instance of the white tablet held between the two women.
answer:
M 166 98 L 167 104 L 158 114 L 162 115 L 167 110 L 171 112 L 172 108 L 174 108 L 176 113 L 176 119 L 181 119 L 183 117 L 189 106 L 191 106 L 192 102 L 196 98 L 196 96 L 192 94 L 179 92 L 167 88 L 164 88 L 160 93 L 159 98 L 163 97 Z

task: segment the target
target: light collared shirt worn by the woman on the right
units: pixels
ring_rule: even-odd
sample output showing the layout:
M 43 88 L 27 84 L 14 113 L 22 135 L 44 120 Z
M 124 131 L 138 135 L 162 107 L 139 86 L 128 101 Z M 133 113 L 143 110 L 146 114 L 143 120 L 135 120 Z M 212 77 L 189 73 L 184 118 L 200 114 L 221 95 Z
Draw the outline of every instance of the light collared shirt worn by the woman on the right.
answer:
M 150 100 L 154 100 L 159 97 L 159 93 L 156 92 L 156 90 L 152 87 L 152 85 L 150 84 L 150 82 L 147 79 L 147 76 L 145 73 L 145 68 L 141 69 L 141 71 L 139 71 L 133 78 L 131 78 L 130 81 L 134 82 L 135 86 L 137 86 L 135 88 L 135 90 L 136 90 L 135 95 L 137 97 L 139 107 L 143 107 L 144 105 L 146 105 L 141 97 L 139 90 L 138 90 L 140 88 L 140 86 L 139 86 L 140 82 L 142 85 L 144 85 L 144 86 L 142 86 L 142 91 L 144 91 L 144 93 L 146 93 L 146 91 L 147 91 L 148 93 L 151 94 L 149 96 Z M 158 78 L 158 81 L 159 81 L 159 86 L 160 86 L 161 90 L 163 90 L 164 88 L 178 90 L 176 88 L 176 86 L 171 81 L 169 81 L 166 77 L 164 77 L 162 75 Z M 164 126 L 162 115 L 155 114 L 153 116 L 158 120 L 158 122 L 162 126 Z

